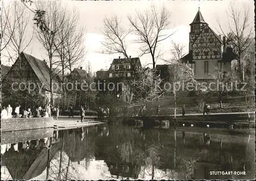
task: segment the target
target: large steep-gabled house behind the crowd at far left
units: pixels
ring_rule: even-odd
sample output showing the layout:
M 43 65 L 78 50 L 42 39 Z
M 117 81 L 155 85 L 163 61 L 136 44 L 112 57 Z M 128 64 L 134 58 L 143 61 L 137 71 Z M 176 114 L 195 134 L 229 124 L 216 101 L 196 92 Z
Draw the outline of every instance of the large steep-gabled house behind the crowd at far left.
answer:
M 52 79 L 53 101 L 60 97 L 62 93 L 59 82 L 59 76 L 55 76 Z M 23 84 L 27 87 L 29 83 L 34 83 L 36 86 L 33 91 L 37 93 L 38 90 L 41 89 L 40 93 L 45 96 L 45 103 L 50 102 L 50 68 L 45 60 L 39 60 L 25 52 L 20 53 L 20 61 L 17 58 L 8 73 L 2 79 L 2 86 L 6 85 L 6 87 L 9 87 L 13 83 L 17 85 Z

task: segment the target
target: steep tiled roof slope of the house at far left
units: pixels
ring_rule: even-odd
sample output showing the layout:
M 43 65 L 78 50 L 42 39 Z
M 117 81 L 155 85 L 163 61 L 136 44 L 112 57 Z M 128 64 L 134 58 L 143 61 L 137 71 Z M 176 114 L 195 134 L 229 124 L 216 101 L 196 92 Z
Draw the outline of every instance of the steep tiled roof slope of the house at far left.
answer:
M 50 91 L 50 69 L 46 62 L 39 60 L 29 54 L 26 54 L 24 52 L 21 53 L 22 56 L 24 56 L 36 76 L 38 77 L 39 81 L 43 84 L 44 83 L 44 88 L 48 91 Z M 54 78 L 52 80 L 53 84 L 58 84 L 58 81 Z

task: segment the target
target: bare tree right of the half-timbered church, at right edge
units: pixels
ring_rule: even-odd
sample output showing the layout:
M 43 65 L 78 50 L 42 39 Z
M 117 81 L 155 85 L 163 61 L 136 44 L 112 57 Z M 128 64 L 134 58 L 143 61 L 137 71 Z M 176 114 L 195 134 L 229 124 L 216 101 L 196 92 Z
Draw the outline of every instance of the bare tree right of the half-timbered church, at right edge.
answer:
M 225 32 L 220 24 L 219 18 L 217 22 L 221 33 L 227 37 L 228 46 L 232 47 L 234 53 L 237 55 L 239 64 L 240 79 L 244 80 L 243 62 L 248 56 L 247 49 L 253 41 L 253 22 L 249 17 L 249 7 L 245 4 L 241 7 L 236 7 L 233 3 L 230 3 L 230 12 L 227 12 L 228 16 L 228 32 Z

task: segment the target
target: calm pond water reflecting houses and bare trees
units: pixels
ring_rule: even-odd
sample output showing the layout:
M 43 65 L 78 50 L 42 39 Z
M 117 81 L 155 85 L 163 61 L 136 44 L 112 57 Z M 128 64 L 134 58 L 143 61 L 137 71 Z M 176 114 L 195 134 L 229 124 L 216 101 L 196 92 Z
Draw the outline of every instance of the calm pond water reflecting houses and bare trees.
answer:
M 1 143 L 1 180 L 255 178 L 254 129 L 103 125 L 51 131 L 50 138 Z

